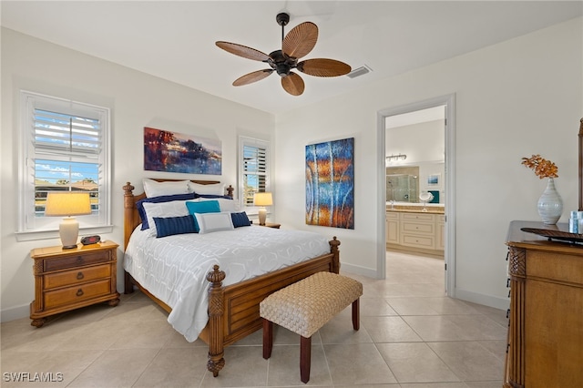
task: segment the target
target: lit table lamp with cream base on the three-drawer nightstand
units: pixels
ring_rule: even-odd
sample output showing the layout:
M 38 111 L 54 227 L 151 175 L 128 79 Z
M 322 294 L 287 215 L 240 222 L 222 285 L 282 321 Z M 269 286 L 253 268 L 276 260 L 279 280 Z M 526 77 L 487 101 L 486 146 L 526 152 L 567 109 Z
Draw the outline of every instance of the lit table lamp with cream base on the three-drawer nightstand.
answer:
M 45 216 L 65 216 L 58 227 L 64 250 L 77 248 L 79 223 L 73 216 L 91 214 L 91 201 L 87 192 L 49 192 L 46 195 Z

